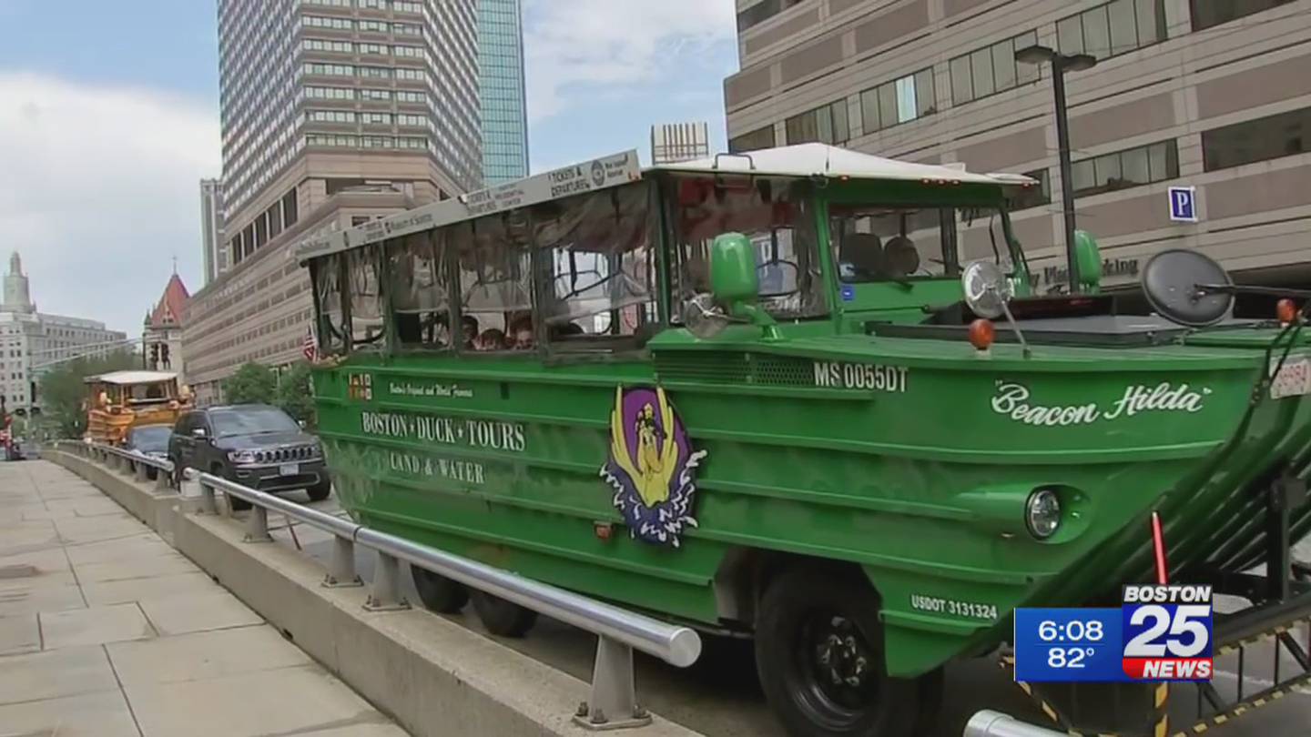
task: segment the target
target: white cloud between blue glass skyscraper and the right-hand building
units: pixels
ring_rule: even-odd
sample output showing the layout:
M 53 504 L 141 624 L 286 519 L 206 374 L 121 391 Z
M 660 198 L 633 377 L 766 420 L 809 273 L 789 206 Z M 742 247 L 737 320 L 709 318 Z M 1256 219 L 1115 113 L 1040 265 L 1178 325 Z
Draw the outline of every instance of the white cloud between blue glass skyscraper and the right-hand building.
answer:
M 733 8 L 728 0 L 527 0 L 530 119 L 560 113 L 572 97 L 686 71 L 712 45 L 733 41 Z

